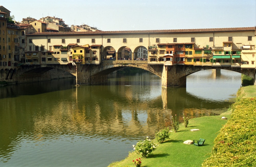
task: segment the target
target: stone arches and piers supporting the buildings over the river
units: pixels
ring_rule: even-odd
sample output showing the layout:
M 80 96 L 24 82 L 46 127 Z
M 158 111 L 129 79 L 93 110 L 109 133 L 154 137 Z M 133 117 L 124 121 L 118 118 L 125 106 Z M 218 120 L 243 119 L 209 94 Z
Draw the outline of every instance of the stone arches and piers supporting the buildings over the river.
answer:
M 108 81 L 107 75 L 124 67 L 140 68 L 162 78 L 162 87 L 179 87 L 186 85 L 186 76 L 200 70 L 225 69 L 236 71 L 254 78 L 255 69 L 241 69 L 230 66 L 194 66 L 148 64 L 143 60 L 103 60 L 101 64 L 46 64 L 18 66 L 15 69 L 1 70 L 1 79 L 7 82 L 36 82 L 77 76 L 77 84 L 91 85 Z

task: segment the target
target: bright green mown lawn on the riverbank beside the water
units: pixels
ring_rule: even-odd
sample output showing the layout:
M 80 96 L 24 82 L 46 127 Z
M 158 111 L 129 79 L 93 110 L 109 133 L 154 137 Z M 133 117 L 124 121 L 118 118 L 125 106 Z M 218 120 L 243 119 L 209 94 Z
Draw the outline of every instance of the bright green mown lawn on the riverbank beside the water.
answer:
M 240 97 L 255 97 L 256 86 L 242 87 L 238 91 Z M 142 167 L 154 166 L 189 166 L 199 167 L 205 159 L 209 159 L 212 148 L 214 147 L 214 140 L 217 137 L 220 129 L 230 119 L 231 110 L 219 116 L 205 116 L 189 120 L 187 128 L 184 124 L 180 125 L 178 132 L 172 132 L 170 139 L 164 143 L 159 144 L 156 151 L 150 154 L 147 158 L 141 158 L 141 155 L 131 152 L 129 156 L 120 161 L 114 162 L 109 167 L 132 167 L 132 161 L 136 158 L 141 158 Z M 221 117 L 225 116 L 228 119 L 222 120 Z M 199 131 L 191 132 L 190 129 L 200 129 Z M 197 147 L 194 145 L 183 144 L 185 140 L 198 140 L 199 138 L 206 139 L 204 146 Z M 157 143 L 155 141 L 155 143 Z

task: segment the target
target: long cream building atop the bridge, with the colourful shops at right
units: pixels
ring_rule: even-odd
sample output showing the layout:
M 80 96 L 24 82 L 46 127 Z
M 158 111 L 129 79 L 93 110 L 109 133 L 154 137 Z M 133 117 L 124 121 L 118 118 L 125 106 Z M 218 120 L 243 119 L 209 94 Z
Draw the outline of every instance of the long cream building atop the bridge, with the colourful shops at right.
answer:
M 131 59 L 134 60 L 138 49 L 145 47 L 148 48 L 149 64 L 255 68 L 255 27 L 34 33 L 28 38 L 33 39 L 34 45 L 46 46 L 47 51 L 59 44 L 68 46 L 76 43 L 79 46 L 88 45 L 89 48 L 101 45 L 101 54 L 97 55 L 99 60 L 118 60 L 122 57 L 119 53 L 126 47 L 131 49 Z M 67 63 L 72 62 L 69 59 L 71 55 L 68 51 Z

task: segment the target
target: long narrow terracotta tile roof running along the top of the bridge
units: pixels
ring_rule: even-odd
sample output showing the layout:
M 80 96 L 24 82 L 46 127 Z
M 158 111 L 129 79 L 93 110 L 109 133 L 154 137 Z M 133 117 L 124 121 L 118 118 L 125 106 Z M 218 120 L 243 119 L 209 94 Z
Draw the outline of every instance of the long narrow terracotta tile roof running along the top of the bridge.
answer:
M 28 35 L 87 35 L 87 34 L 138 34 L 138 33 L 193 33 L 193 32 L 225 32 L 254 31 L 255 27 L 241 28 L 207 28 L 207 29 L 177 29 L 177 30 L 132 30 L 132 31 L 76 31 L 76 32 L 35 32 Z

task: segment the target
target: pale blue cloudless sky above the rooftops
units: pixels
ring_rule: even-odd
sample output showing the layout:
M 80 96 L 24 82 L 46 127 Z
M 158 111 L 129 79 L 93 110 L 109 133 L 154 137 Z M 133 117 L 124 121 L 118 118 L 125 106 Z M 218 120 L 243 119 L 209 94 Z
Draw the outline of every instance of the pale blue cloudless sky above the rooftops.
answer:
M 16 21 L 46 16 L 103 31 L 254 27 L 256 0 L 9 0 Z

